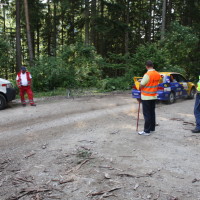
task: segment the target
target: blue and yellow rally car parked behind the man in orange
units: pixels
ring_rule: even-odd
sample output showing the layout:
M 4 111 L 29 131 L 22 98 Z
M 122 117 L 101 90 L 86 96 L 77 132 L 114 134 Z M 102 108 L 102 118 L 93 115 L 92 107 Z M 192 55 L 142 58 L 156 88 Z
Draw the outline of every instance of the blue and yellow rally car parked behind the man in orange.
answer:
M 158 100 L 174 103 L 176 99 L 190 98 L 193 99 L 196 93 L 195 84 L 188 81 L 180 73 L 176 72 L 159 72 L 161 79 L 158 85 Z M 142 77 L 134 77 L 134 86 L 132 89 L 133 98 L 141 98 L 139 84 Z

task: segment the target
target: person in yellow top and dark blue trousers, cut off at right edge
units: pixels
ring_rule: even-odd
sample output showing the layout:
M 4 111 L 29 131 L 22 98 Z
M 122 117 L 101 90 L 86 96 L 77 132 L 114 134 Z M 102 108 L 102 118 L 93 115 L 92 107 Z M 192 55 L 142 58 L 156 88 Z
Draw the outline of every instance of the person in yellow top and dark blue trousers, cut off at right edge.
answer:
M 194 104 L 194 116 L 196 120 L 196 127 L 192 130 L 192 133 L 200 133 L 200 76 L 197 83 L 197 94 Z

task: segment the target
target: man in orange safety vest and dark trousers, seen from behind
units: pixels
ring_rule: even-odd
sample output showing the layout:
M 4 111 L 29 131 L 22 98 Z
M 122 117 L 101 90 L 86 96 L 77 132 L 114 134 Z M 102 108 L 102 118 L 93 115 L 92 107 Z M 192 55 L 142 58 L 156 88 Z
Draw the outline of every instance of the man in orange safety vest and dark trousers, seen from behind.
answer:
M 155 131 L 156 114 L 155 105 L 157 99 L 158 84 L 160 81 L 160 74 L 153 68 L 153 62 L 148 60 L 146 62 L 147 73 L 143 76 L 140 82 L 140 91 L 142 101 L 142 109 L 144 115 L 144 130 L 138 132 L 139 135 L 150 135 L 150 132 Z

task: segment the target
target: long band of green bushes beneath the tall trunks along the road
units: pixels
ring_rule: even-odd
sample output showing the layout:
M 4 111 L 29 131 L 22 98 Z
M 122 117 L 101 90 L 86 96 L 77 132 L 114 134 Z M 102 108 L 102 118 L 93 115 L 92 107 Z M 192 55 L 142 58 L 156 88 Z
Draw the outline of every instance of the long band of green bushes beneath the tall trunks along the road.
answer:
M 140 45 L 133 55 L 110 53 L 103 60 L 93 47 L 76 43 L 65 46 L 56 58 L 43 57 L 37 62 L 31 69 L 34 87 L 42 91 L 58 87 L 126 90 L 134 76 L 144 75 L 147 60 L 153 61 L 157 71 L 192 73 L 197 43 L 192 30 L 179 24 L 172 25 L 165 40 Z

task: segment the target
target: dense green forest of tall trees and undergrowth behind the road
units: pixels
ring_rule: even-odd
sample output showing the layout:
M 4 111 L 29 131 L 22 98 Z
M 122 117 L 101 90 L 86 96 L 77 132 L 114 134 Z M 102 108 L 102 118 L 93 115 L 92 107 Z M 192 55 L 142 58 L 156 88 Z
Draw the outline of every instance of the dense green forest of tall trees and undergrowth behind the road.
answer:
M 157 71 L 200 75 L 199 0 L 0 0 L 0 77 L 35 91 L 127 90 Z

